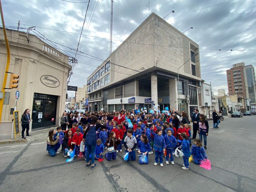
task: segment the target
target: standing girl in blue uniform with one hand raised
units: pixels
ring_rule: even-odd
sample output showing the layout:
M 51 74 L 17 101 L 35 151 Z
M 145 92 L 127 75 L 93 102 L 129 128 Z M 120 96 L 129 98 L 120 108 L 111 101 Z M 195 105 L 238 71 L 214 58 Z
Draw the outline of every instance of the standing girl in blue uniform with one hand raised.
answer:
M 165 152 L 165 140 L 162 136 L 162 130 L 158 129 L 157 134 L 154 133 L 155 126 L 153 125 L 151 128 L 151 134 L 154 136 L 154 149 L 155 149 L 155 163 L 154 165 L 157 166 L 160 161 L 160 166 L 163 167 L 163 152 Z M 159 161 L 158 161 L 159 159 Z

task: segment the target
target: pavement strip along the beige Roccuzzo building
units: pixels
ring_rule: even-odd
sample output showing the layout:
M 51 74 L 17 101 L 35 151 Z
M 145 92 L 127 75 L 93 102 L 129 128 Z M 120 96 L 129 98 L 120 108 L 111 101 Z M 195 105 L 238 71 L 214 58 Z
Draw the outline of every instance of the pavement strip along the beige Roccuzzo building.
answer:
M 1 144 L 13 144 L 13 143 L 24 143 L 24 142 L 32 142 L 32 141 L 39 141 L 39 140 L 47 140 L 49 130 L 55 129 L 56 127 L 51 127 L 48 129 L 42 129 L 42 130 L 37 130 L 37 131 L 30 131 L 31 137 L 27 137 L 25 139 L 21 139 L 21 133 L 20 137 L 17 135 L 16 139 L 13 135 L 13 139 L 11 139 L 11 134 L 5 134 L 5 135 L 0 135 L 0 145 Z

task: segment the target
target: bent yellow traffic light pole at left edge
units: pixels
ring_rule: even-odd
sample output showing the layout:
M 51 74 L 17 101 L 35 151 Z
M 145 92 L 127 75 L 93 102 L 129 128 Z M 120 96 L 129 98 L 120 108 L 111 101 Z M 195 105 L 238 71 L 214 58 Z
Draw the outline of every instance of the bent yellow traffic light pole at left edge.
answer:
M 8 73 L 6 73 L 6 72 L 9 71 L 11 55 L 10 55 L 9 42 L 8 42 L 8 38 L 7 38 L 7 35 L 6 35 L 6 30 L 5 30 L 5 21 L 4 21 L 4 15 L 3 15 L 1 0 L 0 0 L 0 13 L 1 13 L 3 31 L 4 31 L 4 35 L 5 35 L 5 45 L 6 45 L 6 50 L 7 50 L 7 61 L 6 61 L 5 75 L 4 75 L 3 86 L 2 86 L 2 93 L 5 96 L 5 86 L 6 86 L 7 75 L 8 75 Z M 1 124 L 1 118 L 2 118 L 3 104 L 4 104 L 4 98 L 0 99 L 0 124 Z

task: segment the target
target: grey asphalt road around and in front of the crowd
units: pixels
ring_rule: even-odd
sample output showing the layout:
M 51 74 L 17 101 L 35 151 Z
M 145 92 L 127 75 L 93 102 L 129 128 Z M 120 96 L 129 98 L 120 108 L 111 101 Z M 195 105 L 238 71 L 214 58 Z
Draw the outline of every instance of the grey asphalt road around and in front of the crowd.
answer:
M 255 124 L 256 116 L 229 117 L 220 129 L 210 128 L 206 154 L 212 170 L 194 163 L 182 170 L 182 158 L 175 158 L 175 165 L 166 165 L 164 159 L 164 167 L 154 166 L 154 154 L 148 165 L 139 165 L 138 158 L 125 162 L 120 152 L 116 160 L 96 162 L 90 170 L 85 160 L 66 163 L 62 154 L 51 158 L 46 152 L 48 130 L 32 132 L 33 142 L 0 145 L 0 191 L 255 192 Z

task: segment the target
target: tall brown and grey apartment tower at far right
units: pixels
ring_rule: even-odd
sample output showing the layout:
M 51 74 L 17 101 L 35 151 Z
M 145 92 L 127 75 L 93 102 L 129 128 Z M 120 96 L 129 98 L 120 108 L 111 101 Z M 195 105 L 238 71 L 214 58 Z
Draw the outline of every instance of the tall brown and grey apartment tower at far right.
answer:
M 256 81 L 252 65 L 245 63 L 233 64 L 226 71 L 229 95 L 238 95 L 238 102 L 244 100 L 243 112 L 256 107 Z

